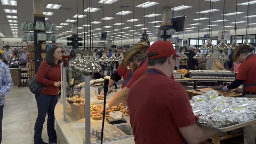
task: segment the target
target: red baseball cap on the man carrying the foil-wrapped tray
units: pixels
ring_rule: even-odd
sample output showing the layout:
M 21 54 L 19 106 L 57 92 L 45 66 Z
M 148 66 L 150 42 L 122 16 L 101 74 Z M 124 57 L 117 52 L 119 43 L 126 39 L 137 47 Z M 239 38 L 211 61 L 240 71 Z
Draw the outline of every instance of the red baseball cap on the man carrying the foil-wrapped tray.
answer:
M 167 41 L 158 41 L 151 45 L 147 52 L 148 59 L 159 59 L 159 58 L 167 58 L 174 55 L 175 57 L 180 57 L 177 54 L 176 50 L 173 48 L 171 42 Z

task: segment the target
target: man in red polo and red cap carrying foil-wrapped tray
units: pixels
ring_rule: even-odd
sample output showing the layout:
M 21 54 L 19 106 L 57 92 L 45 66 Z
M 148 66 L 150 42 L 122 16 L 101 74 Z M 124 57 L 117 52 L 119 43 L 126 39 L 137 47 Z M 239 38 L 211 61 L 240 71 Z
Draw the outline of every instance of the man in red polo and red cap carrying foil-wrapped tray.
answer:
M 216 131 L 196 124 L 196 117 L 183 86 L 171 79 L 175 59 L 172 43 L 155 42 L 149 47 L 148 69 L 130 90 L 127 103 L 136 144 L 199 143 Z

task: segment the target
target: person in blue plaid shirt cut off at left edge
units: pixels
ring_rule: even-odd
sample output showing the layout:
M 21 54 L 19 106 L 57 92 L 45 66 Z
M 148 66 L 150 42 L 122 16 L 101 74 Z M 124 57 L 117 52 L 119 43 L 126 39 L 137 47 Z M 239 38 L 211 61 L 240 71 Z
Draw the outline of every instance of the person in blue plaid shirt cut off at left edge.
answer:
M 0 143 L 2 142 L 2 121 L 4 114 L 4 99 L 13 87 L 10 69 L 0 60 Z

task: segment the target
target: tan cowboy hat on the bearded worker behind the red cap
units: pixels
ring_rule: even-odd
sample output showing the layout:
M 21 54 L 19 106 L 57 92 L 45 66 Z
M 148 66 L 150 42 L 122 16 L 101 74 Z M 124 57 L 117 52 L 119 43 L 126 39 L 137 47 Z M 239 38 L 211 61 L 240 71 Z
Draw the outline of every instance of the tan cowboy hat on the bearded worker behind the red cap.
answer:
M 141 53 L 146 53 L 146 49 L 148 48 L 148 44 L 146 41 L 142 41 L 142 42 L 139 42 L 135 45 L 133 45 L 133 47 L 131 47 L 130 49 L 128 49 L 126 52 L 125 52 L 125 55 L 124 55 L 124 60 L 123 60 L 123 66 L 124 68 L 127 67 L 127 64 L 128 64 L 128 61 L 129 59 L 131 59 L 131 57 L 137 53 L 137 52 L 141 52 Z

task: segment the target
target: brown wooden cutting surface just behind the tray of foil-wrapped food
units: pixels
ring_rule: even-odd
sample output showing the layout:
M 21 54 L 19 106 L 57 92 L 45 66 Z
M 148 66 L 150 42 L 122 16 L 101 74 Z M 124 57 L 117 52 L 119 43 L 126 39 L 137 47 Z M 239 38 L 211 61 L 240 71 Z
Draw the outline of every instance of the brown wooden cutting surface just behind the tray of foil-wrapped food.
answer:
M 200 91 L 195 91 L 195 90 L 187 90 L 188 97 L 191 99 L 191 97 L 194 97 L 195 95 L 202 95 L 207 91 L 213 90 L 212 87 L 204 88 L 204 89 L 197 89 Z M 217 91 L 220 95 L 224 95 L 225 97 L 241 97 L 242 93 L 234 93 L 234 92 L 222 92 L 222 91 Z

